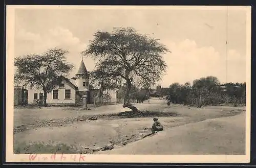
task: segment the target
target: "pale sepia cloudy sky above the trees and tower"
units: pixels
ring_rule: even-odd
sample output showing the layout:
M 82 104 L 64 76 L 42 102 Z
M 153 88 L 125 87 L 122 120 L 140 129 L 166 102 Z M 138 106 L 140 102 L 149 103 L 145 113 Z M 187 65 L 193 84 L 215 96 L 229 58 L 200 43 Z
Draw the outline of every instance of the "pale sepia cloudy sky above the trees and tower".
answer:
M 159 39 L 172 53 L 163 55 L 166 73 L 158 84 L 215 76 L 221 83 L 246 81 L 246 11 L 227 8 L 191 10 L 161 8 L 15 9 L 15 57 L 40 54 L 53 47 L 69 51 L 73 77 L 96 31 L 133 27 Z M 227 43 L 226 43 L 227 41 Z M 83 58 L 89 71 L 91 58 Z

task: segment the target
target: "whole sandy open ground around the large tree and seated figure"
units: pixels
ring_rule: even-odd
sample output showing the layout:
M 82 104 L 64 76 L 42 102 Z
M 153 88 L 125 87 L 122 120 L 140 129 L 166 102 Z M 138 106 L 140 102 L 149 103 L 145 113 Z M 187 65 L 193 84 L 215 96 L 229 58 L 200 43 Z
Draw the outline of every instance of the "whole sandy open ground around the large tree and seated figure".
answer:
M 118 154 L 152 154 L 153 151 L 158 154 L 191 154 L 193 152 L 241 154 L 244 152 L 245 115 L 239 115 L 239 119 L 236 121 L 233 121 L 232 118 L 223 121 L 221 119 L 220 121 L 211 121 L 210 119 L 244 113 L 245 107 L 219 106 L 200 109 L 180 105 L 167 107 L 166 102 L 159 99 L 152 99 L 150 104 L 136 104 L 136 107 L 142 111 L 148 111 L 148 115 L 144 117 L 118 115 L 118 112 L 129 110 L 122 108 L 121 104 L 101 106 L 88 111 L 67 107 L 15 109 L 15 129 L 21 125 L 28 129 L 14 134 L 14 146 L 29 141 L 48 142 L 51 140 L 55 143 L 90 149 L 89 151 L 99 150 L 112 144 L 114 149 L 110 152 Z M 86 119 L 73 119 L 81 116 Z M 90 121 L 88 117 L 91 116 L 98 119 Z M 159 118 L 164 126 L 164 131 L 151 137 L 145 137 L 151 132 L 154 116 Z M 67 117 L 68 119 L 65 119 Z M 233 122 L 236 123 L 236 126 L 233 126 Z M 231 135 L 233 130 L 239 133 Z M 219 141 L 216 140 L 218 138 Z M 229 141 L 225 139 L 229 139 Z M 134 150 L 137 148 L 135 147 L 136 143 L 140 144 L 138 146 L 141 146 L 142 143 L 145 144 L 144 148 L 148 144 L 153 144 L 153 146 L 152 148 L 146 147 L 148 150 L 141 150 L 141 148 Z M 228 146 L 228 144 L 231 145 Z M 225 146 L 226 148 L 224 148 Z

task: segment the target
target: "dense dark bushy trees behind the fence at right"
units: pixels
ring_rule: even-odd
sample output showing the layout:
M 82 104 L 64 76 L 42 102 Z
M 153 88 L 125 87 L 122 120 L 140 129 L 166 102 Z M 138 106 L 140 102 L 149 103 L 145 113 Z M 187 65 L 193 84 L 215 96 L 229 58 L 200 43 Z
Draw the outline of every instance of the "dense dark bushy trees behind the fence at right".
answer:
M 221 88 L 219 80 L 212 76 L 196 79 L 191 86 L 188 82 L 184 85 L 173 83 L 169 86 L 169 97 L 173 103 L 191 105 L 197 104 L 200 97 L 202 105 L 233 103 L 234 96 L 245 102 L 245 83 L 226 83 L 222 85 L 226 86 L 225 89 Z

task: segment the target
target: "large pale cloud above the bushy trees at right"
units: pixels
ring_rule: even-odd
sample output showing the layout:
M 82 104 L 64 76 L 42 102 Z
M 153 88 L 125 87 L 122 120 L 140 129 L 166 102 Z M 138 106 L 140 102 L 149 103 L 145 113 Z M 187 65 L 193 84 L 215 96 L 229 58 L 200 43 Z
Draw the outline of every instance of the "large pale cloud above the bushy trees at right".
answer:
M 162 41 L 172 53 L 166 54 L 167 72 L 161 84 L 168 87 L 174 82 L 184 84 L 193 80 L 216 76 L 221 82 L 244 82 L 245 57 L 236 50 L 220 54 L 212 46 L 200 47 L 196 41 L 186 39 L 181 42 Z

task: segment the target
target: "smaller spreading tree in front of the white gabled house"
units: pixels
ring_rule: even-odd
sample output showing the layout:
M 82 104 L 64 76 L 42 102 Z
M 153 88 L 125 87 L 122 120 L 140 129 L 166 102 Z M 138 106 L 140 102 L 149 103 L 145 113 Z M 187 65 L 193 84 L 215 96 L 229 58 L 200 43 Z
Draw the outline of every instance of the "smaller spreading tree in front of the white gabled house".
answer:
M 72 70 L 73 65 L 66 62 L 68 51 L 50 49 L 41 55 L 27 55 L 14 59 L 17 70 L 15 81 L 24 81 L 30 87 L 44 91 L 44 105 L 46 106 L 47 93 L 49 93 Z

